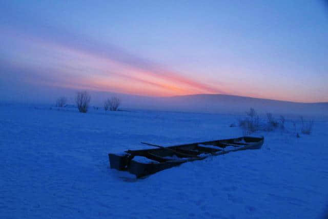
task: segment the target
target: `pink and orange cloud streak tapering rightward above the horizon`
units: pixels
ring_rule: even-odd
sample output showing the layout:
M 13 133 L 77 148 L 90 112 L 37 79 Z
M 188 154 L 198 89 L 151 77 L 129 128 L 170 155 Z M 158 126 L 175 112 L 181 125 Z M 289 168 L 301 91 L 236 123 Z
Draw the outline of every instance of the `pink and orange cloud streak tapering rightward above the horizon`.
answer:
M 43 70 L 44 75 L 74 87 L 78 81 L 88 81 L 99 90 L 144 95 L 226 93 L 86 36 L 42 28 L 24 33 L 9 28 L 6 34 L 19 43 L 13 65 L 34 68 L 38 74 Z M 30 57 L 22 57 L 27 52 Z

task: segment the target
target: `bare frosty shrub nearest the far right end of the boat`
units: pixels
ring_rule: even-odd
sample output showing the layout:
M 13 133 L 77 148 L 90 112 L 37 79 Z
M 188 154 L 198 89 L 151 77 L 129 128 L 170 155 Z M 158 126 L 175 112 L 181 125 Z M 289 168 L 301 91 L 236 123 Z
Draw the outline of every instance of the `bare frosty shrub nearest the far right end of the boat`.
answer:
M 238 121 L 239 126 L 243 129 L 245 134 L 251 134 L 259 130 L 259 117 L 256 111 L 251 108 L 246 112 L 247 117 Z

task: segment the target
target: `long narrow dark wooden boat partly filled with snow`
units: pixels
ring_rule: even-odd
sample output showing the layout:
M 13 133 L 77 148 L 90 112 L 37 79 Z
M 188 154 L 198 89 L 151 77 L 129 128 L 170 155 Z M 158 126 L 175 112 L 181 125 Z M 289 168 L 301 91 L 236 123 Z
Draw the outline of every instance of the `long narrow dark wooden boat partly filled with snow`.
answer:
M 182 163 L 203 160 L 211 155 L 221 155 L 246 149 L 260 149 L 263 142 L 264 137 L 243 136 L 169 147 L 142 143 L 157 148 L 127 150 L 119 154 L 109 153 L 108 156 L 111 168 L 129 171 L 136 177 L 142 177 Z

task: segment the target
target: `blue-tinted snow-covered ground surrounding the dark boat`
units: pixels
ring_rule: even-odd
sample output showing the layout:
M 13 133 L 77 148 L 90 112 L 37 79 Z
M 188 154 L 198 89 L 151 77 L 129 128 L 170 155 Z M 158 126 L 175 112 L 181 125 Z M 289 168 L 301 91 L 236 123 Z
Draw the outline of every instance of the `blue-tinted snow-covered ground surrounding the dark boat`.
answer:
M 321 218 L 328 120 L 136 180 L 109 152 L 242 135 L 237 115 L 0 105 L 0 218 Z M 297 124 L 299 129 L 300 124 Z

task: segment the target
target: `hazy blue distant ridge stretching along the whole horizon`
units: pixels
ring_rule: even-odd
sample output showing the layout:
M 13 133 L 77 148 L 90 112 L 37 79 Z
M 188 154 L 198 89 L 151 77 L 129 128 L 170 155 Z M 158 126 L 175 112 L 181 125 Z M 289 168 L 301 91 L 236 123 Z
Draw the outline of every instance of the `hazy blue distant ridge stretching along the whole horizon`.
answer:
M 75 104 L 75 89 L 38 87 L 31 89 L 29 95 L 17 92 L 0 95 L 1 102 L 47 103 L 54 104 L 59 96 L 66 96 L 69 104 Z M 106 91 L 88 91 L 91 105 L 102 107 L 106 98 L 117 96 L 121 100 L 121 109 L 142 109 L 202 113 L 244 114 L 251 107 L 259 113 L 279 113 L 297 115 L 327 115 L 328 102 L 296 103 L 274 99 L 254 98 L 227 94 L 194 94 L 169 97 L 141 96 Z M 43 95 L 40 95 L 42 93 Z M 3 93 L 4 94 L 4 93 Z

